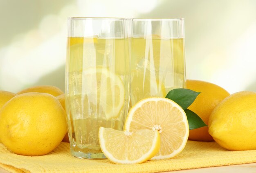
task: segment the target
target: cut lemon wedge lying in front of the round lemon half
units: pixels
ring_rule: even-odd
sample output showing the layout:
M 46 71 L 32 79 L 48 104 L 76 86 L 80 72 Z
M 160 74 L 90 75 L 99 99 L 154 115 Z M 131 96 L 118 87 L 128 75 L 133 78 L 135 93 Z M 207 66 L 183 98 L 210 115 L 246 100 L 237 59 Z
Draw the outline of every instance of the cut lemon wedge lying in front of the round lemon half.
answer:
M 160 148 L 158 131 L 148 129 L 127 132 L 99 128 L 101 151 L 112 162 L 137 164 L 149 160 Z

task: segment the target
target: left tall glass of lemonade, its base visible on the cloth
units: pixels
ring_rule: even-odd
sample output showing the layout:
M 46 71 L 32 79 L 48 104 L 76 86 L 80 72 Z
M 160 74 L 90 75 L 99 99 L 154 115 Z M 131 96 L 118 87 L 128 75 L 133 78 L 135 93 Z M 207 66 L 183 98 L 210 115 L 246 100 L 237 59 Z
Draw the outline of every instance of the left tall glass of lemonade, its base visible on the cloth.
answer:
M 99 127 L 122 130 L 130 100 L 127 21 L 69 18 L 66 111 L 71 153 L 105 158 Z

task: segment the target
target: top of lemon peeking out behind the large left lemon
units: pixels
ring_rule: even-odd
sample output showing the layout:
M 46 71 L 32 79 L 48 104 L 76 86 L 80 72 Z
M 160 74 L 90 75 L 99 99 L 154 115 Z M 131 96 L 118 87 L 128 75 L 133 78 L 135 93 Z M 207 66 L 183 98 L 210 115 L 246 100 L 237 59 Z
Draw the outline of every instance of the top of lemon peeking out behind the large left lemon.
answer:
M 30 92 L 48 93 L 48 94 L 52 94 L 55 97 L 63 94 L 63 91 L 61 91 L 61 89 L 52 85 L 39 85 L 35 87 L 30 87 L 18 92 L 17 94 L 30 93 Z

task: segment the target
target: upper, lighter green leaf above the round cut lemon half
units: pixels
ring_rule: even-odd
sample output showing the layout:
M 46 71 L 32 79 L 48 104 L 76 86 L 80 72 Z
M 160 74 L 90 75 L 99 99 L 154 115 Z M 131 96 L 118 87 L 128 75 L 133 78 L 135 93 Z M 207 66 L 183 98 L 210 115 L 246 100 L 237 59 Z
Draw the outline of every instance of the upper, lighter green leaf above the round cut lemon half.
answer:
M 200 93 L 190 89 L 178 88 L 169 91 L 166 98 L 173 100 L 185 110 L 194 102 L 198 94 Z

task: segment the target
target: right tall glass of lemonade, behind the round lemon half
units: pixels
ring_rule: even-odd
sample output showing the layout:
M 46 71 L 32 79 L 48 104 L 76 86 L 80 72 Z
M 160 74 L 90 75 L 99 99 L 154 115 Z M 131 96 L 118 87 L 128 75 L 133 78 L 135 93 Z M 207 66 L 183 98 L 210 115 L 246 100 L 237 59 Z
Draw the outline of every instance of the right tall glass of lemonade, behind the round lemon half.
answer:
M 186 87 L 184 19 L 132 19 L 131 105 Z

